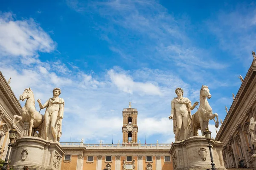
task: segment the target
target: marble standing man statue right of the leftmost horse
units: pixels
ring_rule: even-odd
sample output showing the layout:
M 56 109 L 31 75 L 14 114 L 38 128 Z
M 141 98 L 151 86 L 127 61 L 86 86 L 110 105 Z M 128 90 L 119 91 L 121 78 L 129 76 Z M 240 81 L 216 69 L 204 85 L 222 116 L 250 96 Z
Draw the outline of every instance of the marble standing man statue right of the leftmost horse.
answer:
M 60 98 L 61 94 L 60 88 L 54 88 L 53 97 L 47 100 L 47 102 L 42 105 L 41 99 L 38 99 L 38 104 L 41 109 L 46 108 L 44 114 L 44 138 L 45 140 L 53 140 L 57 142 L 61 137 L 61 124 L 64 114 L 64 99 Z M 50 132 L 49 132 L 50 129 Z

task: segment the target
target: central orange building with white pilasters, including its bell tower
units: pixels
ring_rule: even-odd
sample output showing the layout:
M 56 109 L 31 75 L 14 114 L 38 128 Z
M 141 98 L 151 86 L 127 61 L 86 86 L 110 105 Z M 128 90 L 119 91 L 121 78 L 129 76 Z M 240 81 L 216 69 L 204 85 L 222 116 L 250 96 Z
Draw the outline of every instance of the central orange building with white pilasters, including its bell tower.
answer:
M 131 102 L 123 109 L 122 143 L 60 142 L 66 152 L 61 170 L 172 170 L 172 144 L 138 143 L 137 115 Z

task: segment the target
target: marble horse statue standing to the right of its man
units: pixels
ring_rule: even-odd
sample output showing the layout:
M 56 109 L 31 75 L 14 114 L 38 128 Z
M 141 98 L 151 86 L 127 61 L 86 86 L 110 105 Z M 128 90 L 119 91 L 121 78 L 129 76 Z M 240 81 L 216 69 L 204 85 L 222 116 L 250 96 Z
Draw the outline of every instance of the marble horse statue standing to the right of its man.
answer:
M 198 136 L 198 129 L 201 130 L 202 136 L 204 136 L 205 129 L 209 129 L 209 120 L 214 120 L 216 128 L 219 125 L 218 114 L 212 113 L 212 108 L 207 101 L 207 98 L 210 99 L 211 96 L 212 95 L 209 92 L 208 86 L 203 85 L 200 91 L 200 104 L 198 111 L 192 115 L 192 127 L 194 136 Z M 215 117 L 217 120 L 215 120 Z

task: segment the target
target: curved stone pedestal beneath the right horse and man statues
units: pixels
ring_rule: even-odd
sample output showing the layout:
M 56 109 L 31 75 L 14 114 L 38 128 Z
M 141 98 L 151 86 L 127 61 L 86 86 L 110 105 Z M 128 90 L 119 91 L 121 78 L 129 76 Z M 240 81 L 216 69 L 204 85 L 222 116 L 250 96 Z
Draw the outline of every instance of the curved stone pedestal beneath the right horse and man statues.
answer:
M 211 139 L 212 156 L 217 170 L 226 170 L 221 153 L 223 143 Z M 208 141 L 204 136 L 193 136 L 184 141 L 175 142 L 169 153 L 172 155 L 174 170 L 211 169 Z

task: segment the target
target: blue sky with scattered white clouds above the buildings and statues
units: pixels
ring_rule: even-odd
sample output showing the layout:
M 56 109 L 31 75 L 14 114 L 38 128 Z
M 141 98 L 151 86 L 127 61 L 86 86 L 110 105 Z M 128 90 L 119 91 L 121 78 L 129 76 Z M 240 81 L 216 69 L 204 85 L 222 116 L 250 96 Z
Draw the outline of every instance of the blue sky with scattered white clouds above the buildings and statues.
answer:
M 30 87 L 43 102 L 61 88 L 62 142 L 111 143 L 112 135 L 122 142 L 131 92 L 138 139 L 171 143 L 177 87 L 194 103 L 208 85 L 224 120 L 256 50 L 255 7 L 250 0 L 2 1 L 0 71 L 16 96 Z

